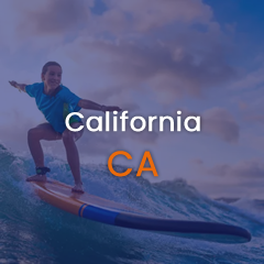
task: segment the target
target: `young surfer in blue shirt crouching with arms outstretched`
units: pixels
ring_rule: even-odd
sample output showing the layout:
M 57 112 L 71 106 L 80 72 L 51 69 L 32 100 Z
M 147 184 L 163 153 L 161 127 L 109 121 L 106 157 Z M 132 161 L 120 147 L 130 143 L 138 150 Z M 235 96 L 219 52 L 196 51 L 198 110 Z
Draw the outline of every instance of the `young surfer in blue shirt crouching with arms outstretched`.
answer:
M 56 141 L 63 140 L 67 162 L 75 179 L 73 191 L 84 193 L 80 177 L 79 154 L 75 142 L 80 139 L 82 131 L 73 132 L 65 125 L 65 119 L 70 112 L 78 112 L 81 108 L 98 111 L 121 111 L 119 107 L 106 107 L 94 101 L 81 99 L 62 85 L 62 66 L 56 62 L 48 62 L 42 68 L 42 82 L 33 85 L 18 84 L 9 81 L 11 86 L 20 91 L 34 97 L 37 108 L 43 112 L 47 122 L 30 129 L 28 132 L 28 143 L 33 156 L 36 175 L 28 177 L 28 182 L 46 182 L 46 173 L 51 169 L 44 165 L 44 154 L 41 140 Z M 81 125 L 81 120 L 74 116 L 69 120 L 72 128 Z

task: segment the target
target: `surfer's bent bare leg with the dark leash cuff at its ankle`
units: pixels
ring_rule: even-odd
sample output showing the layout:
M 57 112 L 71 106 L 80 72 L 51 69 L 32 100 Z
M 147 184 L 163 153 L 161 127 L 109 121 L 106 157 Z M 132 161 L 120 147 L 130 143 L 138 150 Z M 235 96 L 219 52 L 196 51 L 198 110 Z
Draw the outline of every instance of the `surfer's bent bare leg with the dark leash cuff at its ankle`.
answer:
M 29 130 L 28 143 L 36 167 L 44 167 L 44 154 L 41 140 L 55 141 L 61 139 L 62 134 L 57 133 L 50 123 L 42 123 Z M 45 182 L 46 175 L 34 175 L 28 177 L 26 180 Z

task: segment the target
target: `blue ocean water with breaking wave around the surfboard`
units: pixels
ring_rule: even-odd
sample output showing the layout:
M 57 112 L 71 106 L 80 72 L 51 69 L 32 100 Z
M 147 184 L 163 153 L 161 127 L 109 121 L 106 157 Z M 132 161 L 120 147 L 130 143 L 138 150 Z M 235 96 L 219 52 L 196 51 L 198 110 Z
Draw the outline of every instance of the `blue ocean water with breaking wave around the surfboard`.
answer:
M 73 185 L 68 165 L 46 157 L 51 177 Z M 183 179 L 151 184 L 82 165 L 87 193 L 156 217 L 218 221 L 249 230 L 252 241 L 220 244 L 122 229 L 78 218 L 40 200 L 25 176 L 32 158 L 0 144 L 0 263 L 264 263 L 264 201 L 211 200 Z M 117 166 L 117 170 L 125 169 Z

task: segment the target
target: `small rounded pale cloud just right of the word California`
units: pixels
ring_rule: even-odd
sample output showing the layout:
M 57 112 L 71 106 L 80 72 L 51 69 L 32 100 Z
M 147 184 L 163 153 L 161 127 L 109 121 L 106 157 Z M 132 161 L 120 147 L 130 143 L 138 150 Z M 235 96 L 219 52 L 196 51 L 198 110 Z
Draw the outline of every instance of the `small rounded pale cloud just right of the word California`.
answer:
M 201 131 L 230 143 L 238 142 L 240 135 L 239 124 L 231 113 L 222 108 L 212 108 L 202 112 Z

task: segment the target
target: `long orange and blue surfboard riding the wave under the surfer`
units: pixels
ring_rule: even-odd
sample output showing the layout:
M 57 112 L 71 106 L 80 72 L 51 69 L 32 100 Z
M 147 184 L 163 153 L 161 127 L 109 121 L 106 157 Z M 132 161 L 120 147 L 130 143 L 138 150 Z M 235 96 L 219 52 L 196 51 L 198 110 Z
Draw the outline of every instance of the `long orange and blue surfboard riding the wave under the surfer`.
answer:
M 54 179 L 48 179 L 46 183 L 30 183 L 42 200 L 92 221 L 219 243 L 245 243 L 251 241 L 250 232 L 237 226 L 157 218 L 87 193 L 73 193 L 70 186 Z

